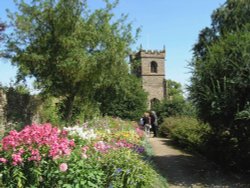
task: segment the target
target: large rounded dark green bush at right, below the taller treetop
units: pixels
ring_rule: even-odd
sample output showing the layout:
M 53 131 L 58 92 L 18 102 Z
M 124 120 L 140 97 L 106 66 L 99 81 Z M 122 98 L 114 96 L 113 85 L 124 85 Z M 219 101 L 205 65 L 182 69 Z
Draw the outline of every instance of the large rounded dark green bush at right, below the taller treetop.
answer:
M 212 126 L 232 125 L 249 102 L 249 33 L 221 38 L 205 61 L 196 63 L 190 87 L 199 116 Z

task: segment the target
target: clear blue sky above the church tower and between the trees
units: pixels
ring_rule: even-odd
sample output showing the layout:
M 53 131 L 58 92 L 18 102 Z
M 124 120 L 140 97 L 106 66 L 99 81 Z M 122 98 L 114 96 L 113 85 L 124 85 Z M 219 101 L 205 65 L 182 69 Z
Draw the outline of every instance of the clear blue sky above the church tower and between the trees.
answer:
M 101 0 L 88 0 L 98 7 Z M 192 47 L 199 32 L 211 24 L 211 14 L 226 0 L 120 0 L 115 14 L 128 14 L 134 30 L 141 28 L 140 36 L 132 46 L 137 51 L 166 49 L 166 79 L 189 85 Z M 0 0 L 0 19 L 7 21 L 6 9 L 15 11 L 13 0 Z M 15 79 L 16 68 L 0 60 L 0 83 L 9 85 Z

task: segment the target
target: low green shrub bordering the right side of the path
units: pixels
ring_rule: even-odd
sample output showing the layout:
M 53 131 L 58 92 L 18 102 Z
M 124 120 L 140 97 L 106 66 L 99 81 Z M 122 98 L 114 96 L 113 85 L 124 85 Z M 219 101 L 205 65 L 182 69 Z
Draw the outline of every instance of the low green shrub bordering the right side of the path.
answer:
M 169 135 L 180 146 L 204 152 L 211 129 L 207 124 L 192 117 L 169 117 L 164 119 L 160 132 Z

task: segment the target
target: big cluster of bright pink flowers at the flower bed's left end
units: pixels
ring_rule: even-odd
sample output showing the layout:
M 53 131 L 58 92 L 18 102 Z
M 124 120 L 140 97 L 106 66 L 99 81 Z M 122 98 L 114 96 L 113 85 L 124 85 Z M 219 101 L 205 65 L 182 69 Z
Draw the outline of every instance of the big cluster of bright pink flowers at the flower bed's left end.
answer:
M 52 159 L 71 154 L 75 142 L 67 138 L 66 131 L 59 131 L 51 124 L 33 124 L 26 126 L 20 132 L 10 131 L 0 141 L 0 150 L 10 153 L 10 161 L 13 165 L 20 165 L 27 161 L 40 161 L 42 158 Z M 6 163 L 7 159 L 0 157 L 0 163 Z

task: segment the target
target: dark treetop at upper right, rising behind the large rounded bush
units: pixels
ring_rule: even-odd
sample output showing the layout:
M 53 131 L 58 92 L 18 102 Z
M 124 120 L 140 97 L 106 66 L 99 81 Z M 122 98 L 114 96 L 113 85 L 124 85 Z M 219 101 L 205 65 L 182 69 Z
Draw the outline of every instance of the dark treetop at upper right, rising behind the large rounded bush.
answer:
M 249 0 L 227 0 L 220 8 L 216 9 L 211 18 L 211 27 L 201 30 L 198 42 L 193 47 L 194 61 L 205 58 L 209 46 L 219 37 L 227 33 L 245 30 L 249 25 L 250 7 Z M 191 66 L 195 66 L 191 63 Z

